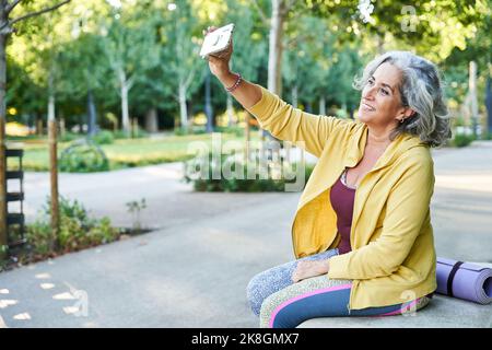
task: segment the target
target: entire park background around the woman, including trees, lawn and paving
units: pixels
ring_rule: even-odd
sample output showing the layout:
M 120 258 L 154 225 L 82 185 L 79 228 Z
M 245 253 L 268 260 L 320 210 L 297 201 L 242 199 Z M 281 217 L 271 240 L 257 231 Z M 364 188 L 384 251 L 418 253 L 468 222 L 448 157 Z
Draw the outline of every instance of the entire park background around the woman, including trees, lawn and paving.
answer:
M 375 56 L 435 62 L 453 126 L 432 150 L 436 252 L 492 262 L 491 12 L 491 0 L 0 1 L 0 328 L 257 326 L 249 279 L 293 258 L 301 192 L 282 166 L 307 182 L 317 160 L 283 148 L 280 165 L 259 164 L 280 178 L 189 176 L 194 144 L 231 142 L 210 175 L 235 155 L 256 166 L 262 147 L 246 145 L 271 140 L 198 55 L 211 25 L 236 25 L 232 71 L 339 118 L 358 118 L 352 82 Z M 492 322 L 482 305 L 437 311 L 430 326 Z

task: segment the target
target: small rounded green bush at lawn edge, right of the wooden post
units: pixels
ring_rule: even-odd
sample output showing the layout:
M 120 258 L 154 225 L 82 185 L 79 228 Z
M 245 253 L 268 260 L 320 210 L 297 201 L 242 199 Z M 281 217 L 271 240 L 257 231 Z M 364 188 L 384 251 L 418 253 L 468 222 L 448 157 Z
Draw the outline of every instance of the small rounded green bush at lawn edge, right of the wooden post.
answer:
M 73 142 L 60 155 L 59 167 L 68 173 L 106 172 L 109 161 L 103 150 L 89 139 Z

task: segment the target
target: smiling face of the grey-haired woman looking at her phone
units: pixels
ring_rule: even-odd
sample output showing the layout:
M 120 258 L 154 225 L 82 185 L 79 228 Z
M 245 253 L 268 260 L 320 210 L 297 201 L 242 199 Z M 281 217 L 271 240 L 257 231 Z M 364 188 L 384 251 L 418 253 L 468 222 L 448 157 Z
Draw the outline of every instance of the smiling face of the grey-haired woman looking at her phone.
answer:
M 385 129 L 398 124 L 407 109 L 401 105 L 400 80 L 401 71 L 391 63 L 384 62 L 377 67 L 362 90 L 359 106 L 359 119 L 362 122 Z

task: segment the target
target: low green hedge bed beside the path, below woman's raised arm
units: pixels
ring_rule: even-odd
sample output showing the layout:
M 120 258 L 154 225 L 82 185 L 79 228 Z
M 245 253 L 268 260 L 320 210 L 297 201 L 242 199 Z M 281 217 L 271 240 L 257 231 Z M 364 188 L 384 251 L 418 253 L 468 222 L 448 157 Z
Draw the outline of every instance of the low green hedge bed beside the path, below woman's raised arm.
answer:
M 241 154 L 239 154 L 241 155 Z M 242 156 L 242 155 L 241 155 Z M 229 164 L 226 164 L 226 162 Z M 298 164 L 283 163 L 282 165 L 276 165 L 272 162 L 258 162 L 258 156 L 255 161 L 250 160 L 247 164 L 239 158 L 235 158 L 231 154 L 222 154 L 220 164 L 215 164 L 212 154 L 209 153 L 206 156 L 197 156 L 190 161 L 184 163 L 185 176 L 183 178 L 186 183 L 192 183 L 194 189 L 197 191 L 245 191 L 245 192 L 259 192 L 259 191 L 284 191 L 288 184 L 294 184 L 296 178 L 291 179 L 291 175 L 297 176 Z M 255 178 L 248 178 L 248 168 L 258 167 L 261 164 L 262 168 L 260 173 L 268 174 L 268 178 L 259 176 L 257 173 Z M 222 174 L 222 168 L 231 168 L 232 174 L 236 174 L 236 166 L 238 172 L 243 168 L 243 176 L 229 176 L 225 178 Z M 219 168 L 220 166 L 220 168 Z M 198 167 L 198 170 L 197 170 Z M 306 164 L 304 168 L 304 184 L 307 183 L 314 165 Z M 213 174 L 220 174 L 220 178 L 213 178 Z M 251 172 L 253 173 L 253 172 Z M 294 174 L 293 174 L 294 173 Z M 277 174 L 277 176 L 273 176 Z M 290 176 L 285 176 L 290 174 Z M 238 175 L 238 174 L 236 174 Z M 303 186 L 304 187 L 304 186 Z M 302 190 L 303 188 L 298 188 Z

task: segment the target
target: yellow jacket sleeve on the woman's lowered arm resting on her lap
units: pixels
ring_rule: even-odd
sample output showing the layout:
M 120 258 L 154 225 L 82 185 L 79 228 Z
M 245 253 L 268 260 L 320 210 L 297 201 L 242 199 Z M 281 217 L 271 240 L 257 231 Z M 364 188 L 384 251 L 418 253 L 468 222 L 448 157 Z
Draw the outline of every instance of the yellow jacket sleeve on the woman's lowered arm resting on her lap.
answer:
M 435 182 L 432 159 L 411 162 L 389 192 L 380 236 L 359 249 L 331 257 L 329 278 L 389 276 L 405 261 L 427 215 Z

